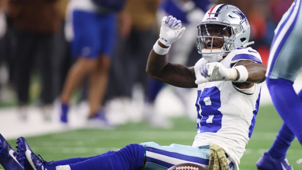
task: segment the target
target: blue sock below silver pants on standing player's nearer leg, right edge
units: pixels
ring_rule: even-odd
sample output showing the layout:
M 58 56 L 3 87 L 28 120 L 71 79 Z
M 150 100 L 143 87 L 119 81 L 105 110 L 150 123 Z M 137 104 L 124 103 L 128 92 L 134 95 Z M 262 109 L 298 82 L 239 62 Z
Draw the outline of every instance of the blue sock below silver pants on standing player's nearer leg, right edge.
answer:
M 298 140 L 301 141 L 302 114 L 297 113 L 302 111 L 302 101 L 293 88 L 293 82 L 286 79 L 267 78 L 266 83 L 277 112 Z

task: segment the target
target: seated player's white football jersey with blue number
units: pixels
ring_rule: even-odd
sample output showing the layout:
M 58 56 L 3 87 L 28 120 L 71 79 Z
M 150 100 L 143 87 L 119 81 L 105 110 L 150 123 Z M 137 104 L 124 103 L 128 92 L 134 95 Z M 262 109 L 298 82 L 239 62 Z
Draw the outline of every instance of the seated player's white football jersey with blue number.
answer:
M 259 53 L 248 47 L 231 51 L 220 61 L 226 68 L 232 68 L 240 60 L 262 63 Z M 202 69 L 204 58 L 194 66 L 196 78 Z M 238 169 L 240 158 L 245 152 L 255 125 L 259 109 L 261 84 L 249 89 L 238 89 L 231 81 L 214 81 L 198 85 L 196 109 L 197 134 L 193 147 L 215 143 L 230 156 Z

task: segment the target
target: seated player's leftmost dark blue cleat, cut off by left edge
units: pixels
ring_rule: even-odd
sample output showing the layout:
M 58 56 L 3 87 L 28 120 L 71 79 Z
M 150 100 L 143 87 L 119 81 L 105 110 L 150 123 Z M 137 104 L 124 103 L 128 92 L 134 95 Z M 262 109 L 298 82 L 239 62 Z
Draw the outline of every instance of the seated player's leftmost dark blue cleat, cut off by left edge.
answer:
M 5 170 L 24 170 L 17 159 L 18 153 L 9 145 L 0 134 L 0 164 Z

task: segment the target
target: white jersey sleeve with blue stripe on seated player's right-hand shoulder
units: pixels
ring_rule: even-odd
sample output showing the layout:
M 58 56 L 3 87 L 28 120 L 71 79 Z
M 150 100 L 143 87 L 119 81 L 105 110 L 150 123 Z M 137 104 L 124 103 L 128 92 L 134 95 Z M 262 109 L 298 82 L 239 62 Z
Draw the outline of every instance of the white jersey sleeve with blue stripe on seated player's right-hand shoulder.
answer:
M 251 60 L 262 64 L 260 54 L 251 47 L 237 49 L 236 54 L 234 55 L 234 57 L 232 57 L 230 67 L 232 68 L 237 62 L 241 60 Z

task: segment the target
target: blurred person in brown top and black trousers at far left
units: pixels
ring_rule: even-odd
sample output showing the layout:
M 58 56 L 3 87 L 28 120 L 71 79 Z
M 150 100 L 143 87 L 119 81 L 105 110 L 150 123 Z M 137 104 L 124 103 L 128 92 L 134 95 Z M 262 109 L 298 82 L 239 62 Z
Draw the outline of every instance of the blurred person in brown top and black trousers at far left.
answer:
M 52 57 L 55 36 L 61 26 L 56 5 L 57 0 L 8 1 L 7 15 L 12 24 L 10 38 L 13 38 L 10 62 L 22 120 L 26 119 L 30 104 L 33 71 L 39 70 L 41 78 L 40 106 L 49 110 L 55 99 Z M 47 113 L 45 118 L 49 119 L 49 116 Z

